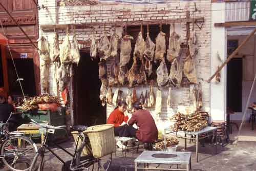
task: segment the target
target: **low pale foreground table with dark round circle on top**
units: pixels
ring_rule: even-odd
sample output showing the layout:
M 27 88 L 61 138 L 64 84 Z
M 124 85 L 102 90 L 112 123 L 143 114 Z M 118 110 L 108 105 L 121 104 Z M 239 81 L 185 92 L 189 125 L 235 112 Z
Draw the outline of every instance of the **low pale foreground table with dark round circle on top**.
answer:
M 191 152 L 144 151 L 134 160 L 134 162 L 135 171 L 137 171 L 138 169 L 189 171 L 191 169 Z M 138 166 L 140 163 L 143 163 L 144 167 Z M 158 168 L 159 165 L 157 167 L 149 167 L 150 163 L 159 165 L 185 164 L 186 168 Z

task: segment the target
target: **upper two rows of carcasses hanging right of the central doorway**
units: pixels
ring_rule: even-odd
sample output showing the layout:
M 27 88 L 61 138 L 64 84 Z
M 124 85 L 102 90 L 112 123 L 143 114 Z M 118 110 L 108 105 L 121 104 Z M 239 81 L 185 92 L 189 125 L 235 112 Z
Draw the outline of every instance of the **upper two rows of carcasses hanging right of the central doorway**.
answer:
M 116 30 L 116 29 L 115 29 Z M 106 33 L 103 34 L 99 43 L 92 37 L 91 42 L 91 59 L 99 57 L 99 78 L 105 86 L 125 85 L 134 87 L 139 84 L 147 83 L 147 78 L 153 73 L 153 61 L 161 61 L 157 68 L 157 83 L 159 87 L 167 86 L 168 83 L 179 87 L 184 75 L 192 83 L 197 83 L 197 74 L 195 67 L 195 56 L 198 53 L 197 35 L 193 31 L 188 41 L 188 51 L 184 61 L 184 68 L 181 65 L 181 36 L 175 31 L 175 26 L 170 27 L 169 47 L 166 59 L 172 62 L 172 67 L 168 73 L 164 54 L 166 53 L 166 35 L 160 31 L 156 37 L 156 44 L 151 40 L 150 33 L 147 31 L 146 40 L 140 31 L 136 40 L 133 53 L 133 65 L 129 70 L 127 64 L 131 59 L 131 40 L 133 37 L 124 35 L 122 29 L 119 32 L 114 31 L 111 40 Z M 118 53 L 120 49 L 120 53 Z M 106 59 L 114 58 L 111 63 L 110 76 L 107 78 Z M 140 65 L 139 65 L 140 64 Z

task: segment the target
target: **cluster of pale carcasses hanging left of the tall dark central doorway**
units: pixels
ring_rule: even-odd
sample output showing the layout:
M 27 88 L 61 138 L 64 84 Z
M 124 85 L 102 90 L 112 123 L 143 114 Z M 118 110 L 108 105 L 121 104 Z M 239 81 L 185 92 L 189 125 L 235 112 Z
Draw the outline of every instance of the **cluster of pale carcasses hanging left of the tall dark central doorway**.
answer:
M 76 34 L 74 33 L 70 43 L 69 33 L 62 44 L 58 45 L 58 35 L 54 32 L 53 44 L 41 35 L 38 39 L 38 54 L 40 58 L 41 87 L 44 93 L 49 93 L 50 63 L 54 65 L 53 75 L 56 78 L 58 90 L 62 92 L 72 76 L 72 65 L 80 60 L 80 53 Z M 58 94 L 58 92 L 57 92 Z

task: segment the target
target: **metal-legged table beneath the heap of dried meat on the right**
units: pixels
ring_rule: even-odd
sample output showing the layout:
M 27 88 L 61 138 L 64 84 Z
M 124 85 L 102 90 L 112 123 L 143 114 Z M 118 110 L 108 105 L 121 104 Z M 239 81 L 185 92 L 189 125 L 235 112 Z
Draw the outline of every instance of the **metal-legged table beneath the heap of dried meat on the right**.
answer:
M 207 138 L 209 137 L 210 135 L 206 135 L 206 136 L 203 136 L 200 138 L 200 135 L 202 134 L 206 134 L 206 133 L 210 133 L 212 132 L 213 135 L 215 137 L 217 137 L 217 127 L 212 127 L 212 126 L 206 126 L 204 127 L 204 129 L 202 129 L 201 131 L 197 131 L 197 132 L 187 132 L 187 131 L 173 131 L 172 129 L 170 128 L 166 128 L 164 129 L 164 142 L 166 140 L 166 134 L 170 134 L 170 133 L 176 133 L 175 136 L 176 137 L 179 137 L 179 138 L 183 138 L 185 139 L 185 149 L 187 147 L 187 139 L 193 139 L 193 140 L 196 140 L 196 157 L 197 157 L 197 162 L 198 162 L 198 147 L 199 147 L 199 139 L 204 139 L 204 138 Z M 177 133 L 182 133 L 184 134 L 185 136 L 182 137 L 182 136 L 177 136 Z M 192 138 L 192 137 L 187 137 L 187 135 L 193 135 L 195 136 L 195 138 Z M 215 138 L 215 153 L 217 153 L 217 138 Z

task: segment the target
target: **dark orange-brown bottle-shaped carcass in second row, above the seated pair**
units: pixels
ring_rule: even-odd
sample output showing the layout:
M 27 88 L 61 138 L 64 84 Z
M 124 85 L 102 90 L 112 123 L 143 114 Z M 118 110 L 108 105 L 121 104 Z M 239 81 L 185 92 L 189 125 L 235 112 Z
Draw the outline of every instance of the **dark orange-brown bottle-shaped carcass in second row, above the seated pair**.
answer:
M 129 70 L 128 74 L 129 86 L 133 87 L 140 83 L 140 70 L 138 69 L 136 57 L 133 58 L 132 68 Z

